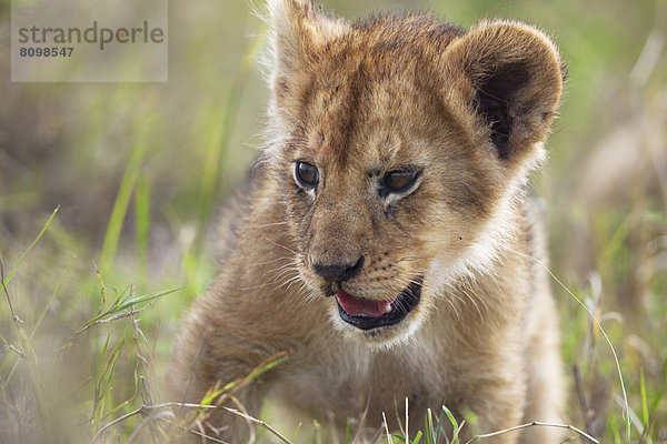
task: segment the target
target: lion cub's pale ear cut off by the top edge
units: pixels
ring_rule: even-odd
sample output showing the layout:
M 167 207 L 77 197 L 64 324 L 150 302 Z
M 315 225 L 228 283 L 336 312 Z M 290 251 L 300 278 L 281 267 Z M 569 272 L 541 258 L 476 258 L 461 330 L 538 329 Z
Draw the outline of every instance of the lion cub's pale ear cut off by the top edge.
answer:
M 271 87 L 280 99 L 289 91 L 290 78 L 348 26 L 313 6 L 311 0 L 268 0 L 267 9 L 273 58 Z

